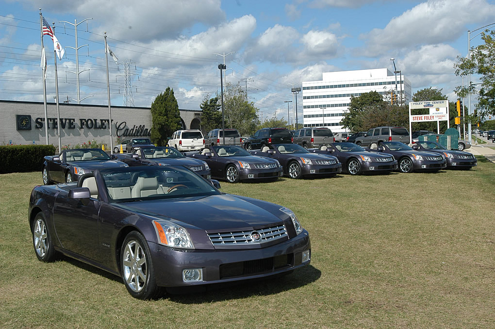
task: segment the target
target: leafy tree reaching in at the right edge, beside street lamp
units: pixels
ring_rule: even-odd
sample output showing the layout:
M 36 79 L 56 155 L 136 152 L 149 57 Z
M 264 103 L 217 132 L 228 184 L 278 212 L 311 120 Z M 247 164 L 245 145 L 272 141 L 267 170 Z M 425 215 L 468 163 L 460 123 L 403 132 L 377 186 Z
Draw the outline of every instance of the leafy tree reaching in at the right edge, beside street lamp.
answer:
M 488 30 L 481 34 L 484 44 L 471 48 L 470 59 L 457 56 L 454 64 L 455 75 L 478 75 L 481 86 L 477 91 L 476 85 L 458 86 L 455 93 L 459 97 L 467 97 L 468 94 L 478 94 L 479 103 L 476 105 L 478 116 L 495 115 L 495 31 Z

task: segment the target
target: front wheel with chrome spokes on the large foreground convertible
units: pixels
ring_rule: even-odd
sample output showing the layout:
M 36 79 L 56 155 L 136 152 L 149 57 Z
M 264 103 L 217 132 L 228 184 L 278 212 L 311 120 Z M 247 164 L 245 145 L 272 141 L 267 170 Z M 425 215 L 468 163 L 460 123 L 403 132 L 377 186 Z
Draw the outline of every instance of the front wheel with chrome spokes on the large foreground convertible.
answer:
M 120 272 L 127 291 L 135 298 L 151 299 L 164 292 L 156 285 L 148 243 L 137 231 L 130 232 L 122 243 Z

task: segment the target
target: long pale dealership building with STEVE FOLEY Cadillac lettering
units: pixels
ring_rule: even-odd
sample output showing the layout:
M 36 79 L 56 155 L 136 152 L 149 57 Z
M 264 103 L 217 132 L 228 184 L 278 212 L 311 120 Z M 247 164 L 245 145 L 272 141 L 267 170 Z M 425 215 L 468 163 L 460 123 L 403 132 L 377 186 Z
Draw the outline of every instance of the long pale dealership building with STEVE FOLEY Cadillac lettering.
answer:
M 88 141 L 109 141 L 108 105 L 59 104 L 62 145 Z M 49 144 L 58 146 L 58 122 L 55 103 L 48 103 Z M 0 145 L 45 144 L 45 106 L 43 102 L 0 100 L 2 122 Z M 116 138 L 149 137 L 149 107 L 111 106 L 112 136 Z M 180 110 L 183 129 L 200 129 L 201 110 Z

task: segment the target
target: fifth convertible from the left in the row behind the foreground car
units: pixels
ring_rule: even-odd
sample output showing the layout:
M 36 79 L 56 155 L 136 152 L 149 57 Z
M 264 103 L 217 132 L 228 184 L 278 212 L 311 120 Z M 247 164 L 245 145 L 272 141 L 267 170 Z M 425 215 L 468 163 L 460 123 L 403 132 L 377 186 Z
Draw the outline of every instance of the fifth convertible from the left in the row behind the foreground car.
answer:
M 390 154 L 369 152 L 354 143 L 330 143 L 313 152 L 336 156 L 350 175 L 363 172 L 388 174 L 397 169 L 397 160 Z

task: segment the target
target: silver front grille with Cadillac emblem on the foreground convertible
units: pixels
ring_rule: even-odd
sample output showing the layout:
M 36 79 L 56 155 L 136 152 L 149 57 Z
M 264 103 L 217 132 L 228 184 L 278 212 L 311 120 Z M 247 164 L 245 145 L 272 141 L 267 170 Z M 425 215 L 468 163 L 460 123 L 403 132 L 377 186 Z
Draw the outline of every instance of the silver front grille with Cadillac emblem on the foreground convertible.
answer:
M 251 233 L 253 232 L 259 233 L 259 241 L 255 241 L 251 238 Z M 289 238 L 284 224 L 252 231 L 208 233 L 208 237 L 210 238 L 210 241 L 211 243 L 213 243 L 213 245 L 218 246 L 254 245 L 261 244 L 267 241 Z

